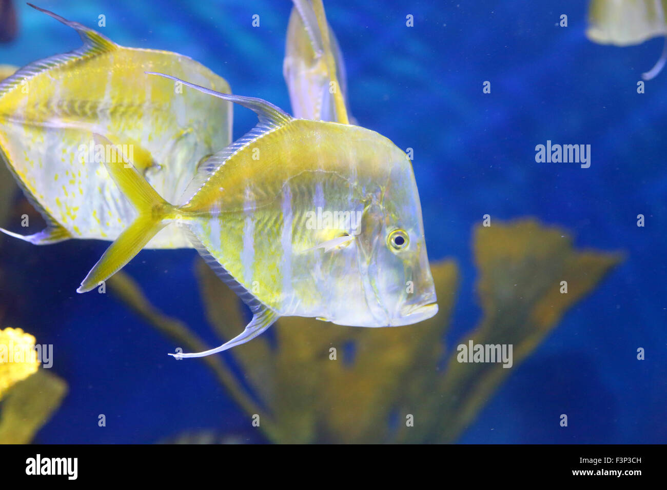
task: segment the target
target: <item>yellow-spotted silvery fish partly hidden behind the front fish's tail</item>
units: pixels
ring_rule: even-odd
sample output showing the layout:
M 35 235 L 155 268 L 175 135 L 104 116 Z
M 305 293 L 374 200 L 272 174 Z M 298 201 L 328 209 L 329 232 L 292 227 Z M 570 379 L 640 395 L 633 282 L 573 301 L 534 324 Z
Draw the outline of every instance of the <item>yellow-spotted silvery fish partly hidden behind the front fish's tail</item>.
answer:
M 34 8 L 75 29 L 83 47 L 31 63 L 0 83 L 0 159 L 47 221 L 47 229 L 33 235 L 0 231 L 39 245 L 69 238 L 114 240 L 135 211 L 100 165 L 115 154 L 111 145 L 119 145 L 119 156 L 131 159 L 171 201 L 183 193 L 199 161 L 231 143 L 231 103 L 183 93 L 183 87 L 145 71 L 187 74 L 225 92 L 229 85 L 188 57 L 122 47 Z M 95 144 L 93 134 L 109 144 Z M 172 228 L 147 243 L 147 248 L 190 246 Z

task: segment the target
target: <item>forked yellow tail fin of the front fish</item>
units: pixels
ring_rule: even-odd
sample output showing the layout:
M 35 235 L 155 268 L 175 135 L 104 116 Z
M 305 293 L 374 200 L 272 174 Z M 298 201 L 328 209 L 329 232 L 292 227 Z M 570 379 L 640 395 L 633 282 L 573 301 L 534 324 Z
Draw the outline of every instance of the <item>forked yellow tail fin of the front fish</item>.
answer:
M 111 243 L 107 251 L 97 261 L 95 267 L 81 282 L 77 293 L 91 291 L 122 269 L 158 231 L 171 221 L 178 219 L 177 208 L 167 203 L 135 169 L 131 162 L 121 155 L 119 147 L 101 135 L 94 135 L 95 142 L 109 145 L 107 152 L 111 161 L 104 161 L 109 176 L 123 195 L 139 212 L 137 219 Z

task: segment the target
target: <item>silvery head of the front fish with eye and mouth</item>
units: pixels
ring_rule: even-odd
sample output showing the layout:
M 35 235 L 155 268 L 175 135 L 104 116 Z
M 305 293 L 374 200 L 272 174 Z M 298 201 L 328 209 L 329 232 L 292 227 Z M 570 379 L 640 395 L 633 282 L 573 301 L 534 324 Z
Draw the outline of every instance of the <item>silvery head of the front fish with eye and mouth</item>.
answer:
M 412 325 L 438 313 L 412 165 L 396 148 L 394 161 L 369 195 L 355 247 L 362 297 L 354 325 Z M 363 314 L 360 314 L 362 313 Z

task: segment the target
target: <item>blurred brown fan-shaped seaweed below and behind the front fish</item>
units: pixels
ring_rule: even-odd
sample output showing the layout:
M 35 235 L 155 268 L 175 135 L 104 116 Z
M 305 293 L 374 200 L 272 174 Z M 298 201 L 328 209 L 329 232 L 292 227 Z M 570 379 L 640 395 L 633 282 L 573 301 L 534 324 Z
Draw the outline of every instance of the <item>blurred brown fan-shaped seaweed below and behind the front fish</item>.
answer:
M 460 341 L 512 344 L 514 367 L 622 259 L 576 250 L 564 231 L 534 219 L 477 227 L 473 244 L 483 315 Z M 244 307 L 202 261 L 196 271 L 211 326 L 222 340 L 233 337 L 245 325 Z M 440 261 L 432 273 L 440 311 L 418 325 L 362 329 L 281 318 L 273 341 L 262 335 L 228 354 L 250 389 L 226 355 L 201 362 L 248 415 L 260 415 L 260 429 L 276 443 L 454 442 L 512 369 L 460 363 L 458 349 L 446 349 L 458 267 Z M 207 348 L 184 323 L 150 305 L 129 276 L 119 273 L 108 285 L 181 347 Z

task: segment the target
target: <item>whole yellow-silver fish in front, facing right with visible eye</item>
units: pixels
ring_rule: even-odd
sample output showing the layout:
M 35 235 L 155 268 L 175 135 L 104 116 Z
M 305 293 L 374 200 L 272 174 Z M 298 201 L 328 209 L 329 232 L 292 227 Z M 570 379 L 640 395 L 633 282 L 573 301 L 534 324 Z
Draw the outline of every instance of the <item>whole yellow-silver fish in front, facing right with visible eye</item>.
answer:
M 293 119 L 261 99 L 162 76 L 252 109 L 259 124 L 205 161 L 173 204 L 136 169 L 105 161 L 139 216 L 77 291 L 96 287 L 175 222 L 253 312 L 227 343 L 176 357 L 245 343 L 283 316 L 386 327 L 436 314 L 412 165 L 394 143 L 369 129 Z

